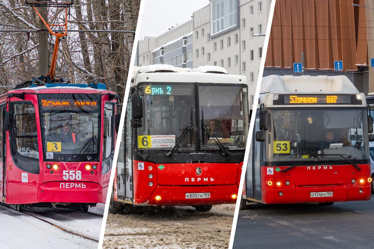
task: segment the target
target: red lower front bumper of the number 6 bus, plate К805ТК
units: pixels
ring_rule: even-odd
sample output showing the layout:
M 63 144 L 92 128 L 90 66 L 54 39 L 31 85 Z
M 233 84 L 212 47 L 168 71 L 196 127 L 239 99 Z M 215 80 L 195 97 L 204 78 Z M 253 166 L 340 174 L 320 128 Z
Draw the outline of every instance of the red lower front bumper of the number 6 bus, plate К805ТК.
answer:
M 186 199 L 187 193 L 210 193 L 210 198 Z M 238 187 L 224 186 L 157 186 L 147 205 L 194 206 L 236 203 Z M 234 196 L 233 196 L 234 195 Z M 160 196 L 160 200 L 156 200 Z M 234 197 L 234 198 L 233 198 Z M 135 204 L 140 204 L 136 203 Z

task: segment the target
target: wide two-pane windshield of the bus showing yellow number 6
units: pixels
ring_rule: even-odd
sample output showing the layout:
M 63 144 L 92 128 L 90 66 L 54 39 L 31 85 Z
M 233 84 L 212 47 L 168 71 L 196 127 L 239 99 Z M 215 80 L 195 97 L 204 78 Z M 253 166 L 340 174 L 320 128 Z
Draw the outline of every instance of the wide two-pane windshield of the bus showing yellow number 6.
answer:
M 249 129 L 246 85 L 140 84 L 139 93 L 144 116 L 138 128 L 138 149 L 170 150 L 177 144 L 177 151 L 191 152 L 196 143 L 202 150 L 218 151 L 221 145 L 245 149 Z

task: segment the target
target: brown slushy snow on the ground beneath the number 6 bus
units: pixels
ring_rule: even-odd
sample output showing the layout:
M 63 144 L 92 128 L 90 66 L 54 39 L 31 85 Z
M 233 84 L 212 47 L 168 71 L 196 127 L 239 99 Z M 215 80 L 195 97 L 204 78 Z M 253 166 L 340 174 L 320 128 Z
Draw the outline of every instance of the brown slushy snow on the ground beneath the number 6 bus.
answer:
M 103 249 L 201 249 L 229 246 L 235 204 L 209 212 L 192 207 L 142 208 L 137 214 L 108 214 Z

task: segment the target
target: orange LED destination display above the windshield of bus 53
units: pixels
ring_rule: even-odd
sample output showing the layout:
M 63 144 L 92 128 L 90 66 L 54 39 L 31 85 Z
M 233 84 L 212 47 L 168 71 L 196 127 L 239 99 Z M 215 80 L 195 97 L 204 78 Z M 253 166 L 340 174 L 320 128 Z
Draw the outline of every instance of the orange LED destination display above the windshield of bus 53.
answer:
M 361 105 L 356 94 L 279 94 L 274 105 Z

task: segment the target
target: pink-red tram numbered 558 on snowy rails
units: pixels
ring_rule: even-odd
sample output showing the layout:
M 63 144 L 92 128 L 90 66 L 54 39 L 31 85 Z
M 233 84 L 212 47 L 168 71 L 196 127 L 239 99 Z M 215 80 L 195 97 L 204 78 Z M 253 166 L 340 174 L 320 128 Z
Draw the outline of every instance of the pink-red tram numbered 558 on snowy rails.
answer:
M 1 203 L 87 211 L 105 202 L 117 99 L 101 83 L 31 85 L 1 95 Z

